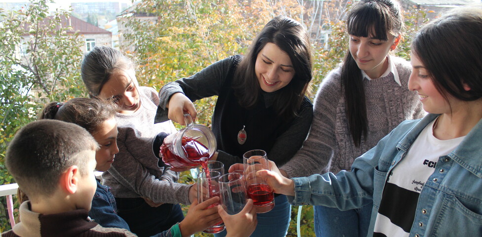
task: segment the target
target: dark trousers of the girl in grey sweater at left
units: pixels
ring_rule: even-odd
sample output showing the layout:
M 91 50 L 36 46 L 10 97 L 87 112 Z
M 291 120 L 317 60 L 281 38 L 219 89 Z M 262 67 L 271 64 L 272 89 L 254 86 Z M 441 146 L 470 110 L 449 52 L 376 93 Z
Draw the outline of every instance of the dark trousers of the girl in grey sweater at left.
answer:
M 130 231 L 139 237 L 150 237 L 182 221 L 181 206 L 165 203 L 152 207 L 141 197 L 116 197 L 118 215 L 127 222 Z

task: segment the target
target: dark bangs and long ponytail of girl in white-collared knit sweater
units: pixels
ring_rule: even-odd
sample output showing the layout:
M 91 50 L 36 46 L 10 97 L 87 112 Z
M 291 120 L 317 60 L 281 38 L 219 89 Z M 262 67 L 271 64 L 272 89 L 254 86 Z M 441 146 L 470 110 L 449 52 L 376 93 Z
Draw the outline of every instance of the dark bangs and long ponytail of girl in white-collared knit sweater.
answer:
M 400 5 L 395 0 L 361 0 L 353 4 L 347 18 L 347 32 L 357 37 L 373 35 L 379 40 L 388 40 L 402 34 L 404 27 Z M 341 83 L 345 88 L 345 101 L 350 133 L 358 147 L 361 137 L 368 133 L 366 98 L 361 70 L 350 50 L 345 54 L 341 68 Z

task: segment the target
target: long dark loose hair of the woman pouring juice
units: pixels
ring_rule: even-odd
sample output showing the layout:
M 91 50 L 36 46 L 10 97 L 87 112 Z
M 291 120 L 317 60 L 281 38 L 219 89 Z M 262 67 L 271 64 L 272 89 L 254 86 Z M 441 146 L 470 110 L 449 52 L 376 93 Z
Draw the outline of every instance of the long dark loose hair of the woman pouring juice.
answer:
M 311 46 L 303 26 L 288 17 L 273 18 L 253 40 L 249 52 L 238 66 L 233 80 L 235 95 L 241 106 L 250 108 L 256 104 L 261 87 L 256 78 L 256 58 L 267 43 L 274 43 L 286 52 L 293 64 L 293 79 L 277 92 L 273 108 L 282 118 L 297 115 L 305 94 L 311 92 L 312 79 Z

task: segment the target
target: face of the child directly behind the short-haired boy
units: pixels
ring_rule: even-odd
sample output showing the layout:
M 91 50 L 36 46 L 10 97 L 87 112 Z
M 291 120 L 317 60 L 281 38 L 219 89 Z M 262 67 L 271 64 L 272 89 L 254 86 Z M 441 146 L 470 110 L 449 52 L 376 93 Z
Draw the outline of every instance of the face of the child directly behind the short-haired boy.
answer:
M 117 147 L 117 123 L 115 118 L 105 120 L 102 124 L 97 126 L 93 137 L 99 144 L 100 148 L 95 153 L 95 160 L 97 165 L 95 169 L 98 171 L 107 171 L 112 163 L 116 154 L 119 153 Z

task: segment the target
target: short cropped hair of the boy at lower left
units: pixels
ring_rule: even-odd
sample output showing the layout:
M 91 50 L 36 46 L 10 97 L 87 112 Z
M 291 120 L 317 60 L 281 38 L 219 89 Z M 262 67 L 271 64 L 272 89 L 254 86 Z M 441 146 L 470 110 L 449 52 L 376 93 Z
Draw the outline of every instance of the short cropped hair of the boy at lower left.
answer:
M 70 166 L 79 166 L 80 174 L 86 175 L 86 164 L 97 149 L 97 142 L 79 125 L 42 119 L 17 132 L 7 148 L 5 165 L 30 199 L 48 197 Z

